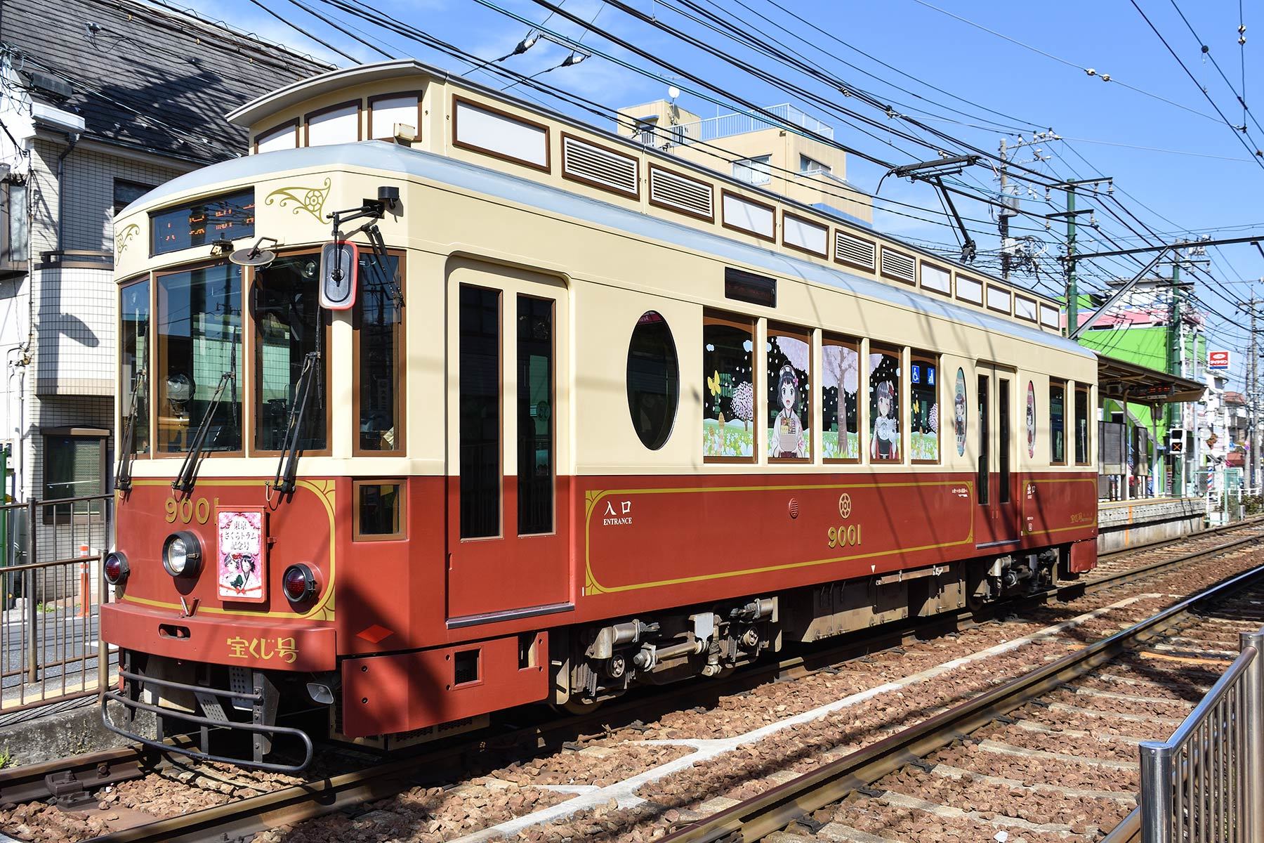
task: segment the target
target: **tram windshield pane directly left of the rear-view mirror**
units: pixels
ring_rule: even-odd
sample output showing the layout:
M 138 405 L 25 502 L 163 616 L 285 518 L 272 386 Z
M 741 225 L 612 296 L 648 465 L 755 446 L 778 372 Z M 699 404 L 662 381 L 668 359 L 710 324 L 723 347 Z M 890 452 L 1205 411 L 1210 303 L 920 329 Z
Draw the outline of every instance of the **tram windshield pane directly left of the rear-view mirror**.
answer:
M 311 383 L 311 398 L 303 416 L 298 447 L 322 451 L 329 447 L 329 334 L 321 320 L 319 291 L 320 255 L 283 255 L 255 269 L 250 284 L 254 316 L 255 412 L 254 447 L 279 451 L 283 447 L 295 392 L 308 354 L 319 354 Z

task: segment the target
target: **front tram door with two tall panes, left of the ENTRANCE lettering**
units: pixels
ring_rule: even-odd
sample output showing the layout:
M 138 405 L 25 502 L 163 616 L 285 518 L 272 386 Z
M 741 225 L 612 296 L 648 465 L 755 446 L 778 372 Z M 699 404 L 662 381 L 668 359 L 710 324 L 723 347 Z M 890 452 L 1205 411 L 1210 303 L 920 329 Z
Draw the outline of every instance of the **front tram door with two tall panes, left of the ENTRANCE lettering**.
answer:
M 446 294 L 449 623 L 569 608 L 566 287 L 454 260 Z

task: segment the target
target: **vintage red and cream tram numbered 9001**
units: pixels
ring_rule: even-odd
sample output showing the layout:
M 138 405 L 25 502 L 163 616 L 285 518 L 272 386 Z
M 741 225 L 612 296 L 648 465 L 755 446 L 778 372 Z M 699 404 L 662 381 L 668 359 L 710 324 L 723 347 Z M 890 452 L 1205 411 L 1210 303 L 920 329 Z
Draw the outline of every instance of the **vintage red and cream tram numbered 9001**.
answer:
M 1055 302 L 412 61 L 230 119 L 115 220 L 110 728 L 296 767 L 1096 564 Z

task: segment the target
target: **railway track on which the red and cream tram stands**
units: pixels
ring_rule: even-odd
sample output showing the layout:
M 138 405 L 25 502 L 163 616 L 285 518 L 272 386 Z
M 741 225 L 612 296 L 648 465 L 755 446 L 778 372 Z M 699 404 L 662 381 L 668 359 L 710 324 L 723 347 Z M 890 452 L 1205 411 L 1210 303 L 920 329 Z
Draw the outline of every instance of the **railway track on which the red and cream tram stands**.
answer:
M 1229 541 L 1225 541 L 1225 540 Z M 1082 581 L 1052 586 L 1042 593 L 1025 597 L 1018 603 L 1035 604 L 1048 600 L 1074 599 L 1102 589 L 1116 588 L 1139 578 L 1153 575 L 1184 562 L 1213 556 L 1264 538 L 1264 519 L 1243 522 L 1217 531 L 1207 531 L 1184 542 L 1164 542 L 1131 551 L 1121 551 L 1103 557 L 1102 574 Z M 1191 549 L 1191 546 L 1193 546 Z M 1012 612 L 1015 603 L 1001 604 Z M 633 698 L 599 712 L 571 715 L 552 722 L 518 729 L 502 731 L 484 737 L 475 746 L 468 742 L 440 746 L 421 755 L 402 757 L 384 765 L 374 765 L 319 781 L 278 787 L 248 799 L 192 811 L 181 816 L 161 819 L 134 828 L 125 828 L 95 838 L 111 842 L 140 840 L 225 840 L 244 839 L 249 835 L 287 825 L 322 814 L 350 809 L 356 805 L 393 795 L 402 789 L 434 780 L 442 770 L 459 771 L 470 751 L 488 747 L 544 746 L 565 737 L 583 738 L 585 734 L 608 731 L 611 723 L 635 722 L 665 713 L 695 700 L 707 700 L 742 688 L 774 680 L 795 679 L 814 671 L 832 670 L 836 665 L 876 653 L 910 637 L 924 634 L 927 627 L 945 624 L 971 624 L 973 616 L 962 612 L 956 617 L 910 622 L 880 636 L 872 633 L 866 640 L 844 642 L 828 650 L 815 648 L 794 655 L 775 665 L 756 665 L 746 671 L 707 684 L 679 685 L 664 689 L 652 696 Z M 857 637 L 858 638 L 858 637 Z M 459 741 L 459 739 L 454 739 Z M 83 805 L 94 789 L 123 779 L 162 768 L 167 762 L 142 748 L 120 748 L 90 753 L 44 765 L 0 771 L 0 804 L 37 799 L 57 799 L 67 808 Z M 95 803 L 94 803 L 95 804 Z

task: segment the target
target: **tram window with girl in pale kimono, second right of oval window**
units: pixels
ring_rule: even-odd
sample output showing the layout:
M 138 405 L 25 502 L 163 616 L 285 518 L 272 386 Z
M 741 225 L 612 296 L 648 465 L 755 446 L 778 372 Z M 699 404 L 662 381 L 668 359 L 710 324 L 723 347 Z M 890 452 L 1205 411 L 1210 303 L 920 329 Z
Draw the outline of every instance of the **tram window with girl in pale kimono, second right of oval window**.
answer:
M 765 348 L 769 389 L 769 459 L 811 458 L 811 335 L 769 325 Z

